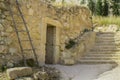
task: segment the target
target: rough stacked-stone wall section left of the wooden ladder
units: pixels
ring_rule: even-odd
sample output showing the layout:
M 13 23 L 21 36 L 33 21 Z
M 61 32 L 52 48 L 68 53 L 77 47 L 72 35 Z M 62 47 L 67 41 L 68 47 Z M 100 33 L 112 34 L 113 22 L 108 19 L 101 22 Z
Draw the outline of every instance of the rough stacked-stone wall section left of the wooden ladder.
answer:
M 11 24 L 11 17 L 6 0 L 0 0 L 0 68 L 3 65 L 13 67 L 13 54 L 15 49 L 11 48 L 11 33 L 14 33 Z M 11 55 L 11 54 L 12 55 Z

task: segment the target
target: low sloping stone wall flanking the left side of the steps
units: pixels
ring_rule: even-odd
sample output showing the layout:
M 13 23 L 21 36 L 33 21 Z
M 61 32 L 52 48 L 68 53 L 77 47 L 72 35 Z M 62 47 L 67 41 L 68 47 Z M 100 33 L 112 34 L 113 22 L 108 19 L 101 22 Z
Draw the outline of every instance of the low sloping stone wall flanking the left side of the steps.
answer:
M 65 49 L 61 53 L 61 63 L 72 65 L 79 60 L 83 54 L 89 51 L 95 44 L 96 33 L 86 32 L 78 40 L 78 42 L 70 49 Z

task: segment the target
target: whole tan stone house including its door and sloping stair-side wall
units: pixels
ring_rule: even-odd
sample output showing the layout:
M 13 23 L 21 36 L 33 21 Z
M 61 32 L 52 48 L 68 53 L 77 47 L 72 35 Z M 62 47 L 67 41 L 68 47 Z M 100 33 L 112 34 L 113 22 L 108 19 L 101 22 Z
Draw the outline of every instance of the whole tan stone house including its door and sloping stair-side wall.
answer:
M 81 6 L 55 7 L 43 0 L 18 0 L 25 18 L 32 43 L 35 47 L 39 64 L 74 64 L 94 44 L 95 34 L 83 32 L 92 28 L 91 14 L 88 8 Z M 16 1 L 0 0 L 0 63 L 17 62 L 22 59 L 13 20 L 9 7 L 14 12 L 19 30 L 24 25 L 19 23 Z M 83 34 L 83 35 L 82 35 Z M 26 33 L 19 34 L 22 40 Z M 3 42 L 2 42 L 3 41 Z M 73 43 L 73 44 L 72 44 Z M 72 46 L 71 46 L 72 45 Z M 30 43 L 22 42 L 25 49 Z M 32 51 L 24 53 L 26 59 L 33 58 Z

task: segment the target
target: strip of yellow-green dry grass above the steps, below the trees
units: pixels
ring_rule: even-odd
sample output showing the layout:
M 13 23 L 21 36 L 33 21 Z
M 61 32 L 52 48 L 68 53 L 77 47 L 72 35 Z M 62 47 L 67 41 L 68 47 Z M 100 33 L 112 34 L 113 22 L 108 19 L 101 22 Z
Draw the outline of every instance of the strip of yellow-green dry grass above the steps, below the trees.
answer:
M 97 23 L 98 25 L 109 25 L 116 24 L 120 26 L 120 16 L 112 16 L 112 17 L 101 17 L 101 16 L 93 16 L 93 23 Z

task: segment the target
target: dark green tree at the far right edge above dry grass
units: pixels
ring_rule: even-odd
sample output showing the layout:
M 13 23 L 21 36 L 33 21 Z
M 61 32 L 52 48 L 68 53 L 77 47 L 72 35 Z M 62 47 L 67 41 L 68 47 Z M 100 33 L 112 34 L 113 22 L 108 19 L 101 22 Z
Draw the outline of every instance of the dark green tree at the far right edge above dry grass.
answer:
M 119 16 L 120 11 L 119 11 L 119 0 L 113 0 L 112 1 L 112 9 L 113 9 L 113 15 Z

